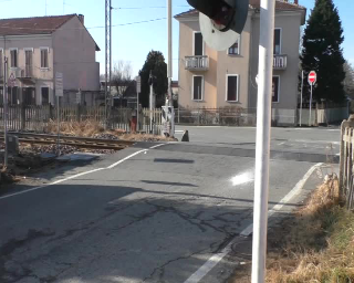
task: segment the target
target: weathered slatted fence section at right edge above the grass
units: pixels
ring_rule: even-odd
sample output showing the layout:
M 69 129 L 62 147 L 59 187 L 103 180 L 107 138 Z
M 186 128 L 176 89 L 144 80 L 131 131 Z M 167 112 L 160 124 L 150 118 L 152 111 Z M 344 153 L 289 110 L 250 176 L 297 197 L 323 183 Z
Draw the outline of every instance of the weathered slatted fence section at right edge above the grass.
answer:
M 354 209 L 354 116 L 342 123 L 340 195 L 346 200 L 346 207 Z

